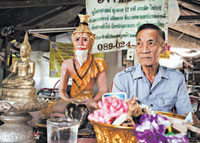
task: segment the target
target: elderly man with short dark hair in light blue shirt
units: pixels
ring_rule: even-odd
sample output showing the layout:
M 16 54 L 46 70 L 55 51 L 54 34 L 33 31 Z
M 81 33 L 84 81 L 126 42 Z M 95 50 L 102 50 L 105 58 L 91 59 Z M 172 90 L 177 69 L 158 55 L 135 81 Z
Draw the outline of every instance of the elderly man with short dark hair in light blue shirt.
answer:
M 144 24 L 136 33 L 136 53 L 140 64 L 117 73 L 112 92 L 125 92 L 137 97 L 155 111 L 178 114 L 192 111 L 184 76 L 177 70 L 159 65 L 165 52 L 165 33 L 153 24 Z

